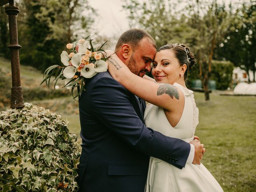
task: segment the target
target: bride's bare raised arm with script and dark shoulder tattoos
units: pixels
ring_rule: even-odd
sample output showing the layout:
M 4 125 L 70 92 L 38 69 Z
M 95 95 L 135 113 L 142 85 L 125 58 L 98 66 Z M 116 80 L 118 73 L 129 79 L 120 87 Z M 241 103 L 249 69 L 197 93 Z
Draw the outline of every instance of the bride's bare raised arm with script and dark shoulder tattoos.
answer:
M 158 84 L 133 74 L 116 54 L 108 59 L 108 63 L 112 77 L 147 102 L 171 111 L 180 104 L 180 101 L 184 101 L 184 94 L 180 89 L 171 84 Z

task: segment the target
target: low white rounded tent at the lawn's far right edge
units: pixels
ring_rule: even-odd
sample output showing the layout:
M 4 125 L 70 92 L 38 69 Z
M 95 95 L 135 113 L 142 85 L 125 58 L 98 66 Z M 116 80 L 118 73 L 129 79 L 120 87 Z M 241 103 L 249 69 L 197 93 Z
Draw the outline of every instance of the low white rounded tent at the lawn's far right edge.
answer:
M 238 95 L 256 95 L 256 83 L 247 84 L 245 82 L 238 83 L 234 88 L 234 94 Z

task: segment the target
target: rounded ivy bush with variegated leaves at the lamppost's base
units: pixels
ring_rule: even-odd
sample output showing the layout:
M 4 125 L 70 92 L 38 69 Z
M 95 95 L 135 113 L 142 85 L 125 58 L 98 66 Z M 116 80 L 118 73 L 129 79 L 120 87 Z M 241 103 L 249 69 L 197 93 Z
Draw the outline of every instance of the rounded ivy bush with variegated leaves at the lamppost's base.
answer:
M 76 191 L 79 157 L 60 115 L 29 103 L 0 112 L 0 191 Z

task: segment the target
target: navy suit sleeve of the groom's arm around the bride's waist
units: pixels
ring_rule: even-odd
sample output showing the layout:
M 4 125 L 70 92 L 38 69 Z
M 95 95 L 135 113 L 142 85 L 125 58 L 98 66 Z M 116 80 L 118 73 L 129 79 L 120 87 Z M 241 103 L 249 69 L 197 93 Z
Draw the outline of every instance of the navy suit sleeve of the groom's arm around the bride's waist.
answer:
M 190 144 L 147 128 L 136 114 L 128 91 L 116 80 L 103 77 L 96 81 L 86 102 L 102 124 L 136 150 L 180 169 L 185 166 Z

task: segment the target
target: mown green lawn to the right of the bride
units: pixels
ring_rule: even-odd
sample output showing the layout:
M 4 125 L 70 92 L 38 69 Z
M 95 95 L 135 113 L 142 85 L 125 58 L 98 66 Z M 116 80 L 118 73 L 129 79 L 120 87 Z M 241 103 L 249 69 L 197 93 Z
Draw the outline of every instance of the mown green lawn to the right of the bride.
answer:
M 225 192 L 256 191 L 256 97 L 195 93 L 202 163 Z

